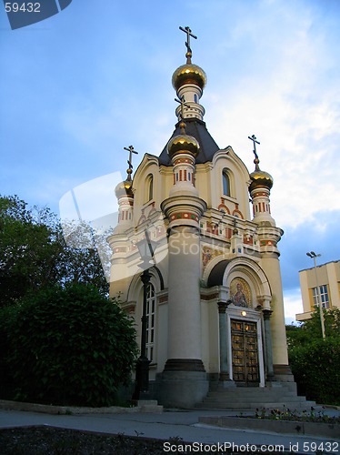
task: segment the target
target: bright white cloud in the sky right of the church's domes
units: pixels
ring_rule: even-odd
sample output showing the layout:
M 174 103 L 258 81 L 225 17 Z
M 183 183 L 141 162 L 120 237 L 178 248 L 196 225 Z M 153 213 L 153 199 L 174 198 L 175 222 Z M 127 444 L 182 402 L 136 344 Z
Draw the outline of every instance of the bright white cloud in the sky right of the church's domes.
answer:
M 315 29 L 315 12 L 294 13 L 285 8 L 282 21 L 290 33 L 279 41 L 284 27 L 278 27 L 272 37 L 275 47 L 264 44 L 268 27 L 256 35 L 246 23 L 237 25 L 235 43 L 242 34 L 254 41 L 258 57 L 256 63 L 250 57 L 254 70 L 241 72 L 236 81 L 231 76 L 233 86 L 219 80 L 217 88 L 206 90 L 209 116 L 213 116 L 209 125 L 214 126 L 217 143 L 232 145 L 250 169 L 254 165 L 247 136 L 258 136 L 260 167 L 274 177 L 273 214 L 283 227 L 311 221 L 325 205 L 329 210 L 340 209 L 340 199 L 333 196 L 340 166 L 338 60 L 329 48 L 326 30 Z M 229 73 L 223 75 L 225 80 Z

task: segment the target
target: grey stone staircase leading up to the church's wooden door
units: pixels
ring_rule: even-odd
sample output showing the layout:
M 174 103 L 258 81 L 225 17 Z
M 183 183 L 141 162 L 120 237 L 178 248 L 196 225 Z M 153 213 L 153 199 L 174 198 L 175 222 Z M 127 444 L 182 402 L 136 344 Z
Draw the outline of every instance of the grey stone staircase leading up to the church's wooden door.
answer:
M 295 382 L 272 382 L 267 387 L 224 387 L 222 384 L 210 389 L 200 410 L 321 410 L 315 401 L 307 401 L 296 393 Z

